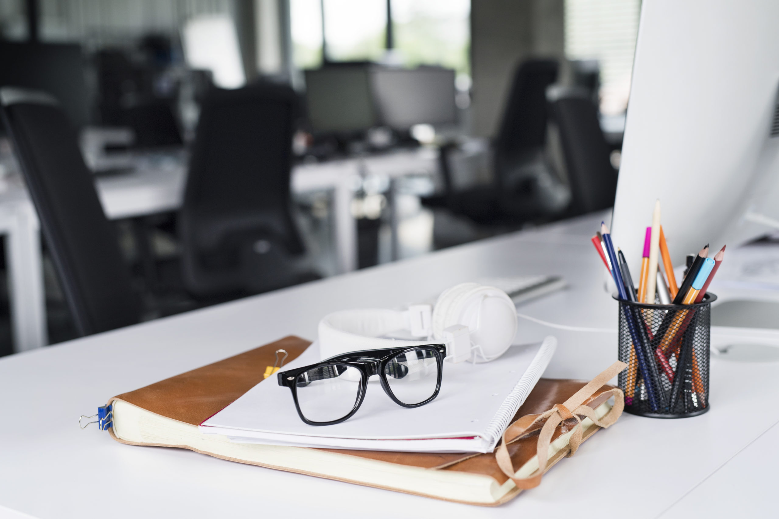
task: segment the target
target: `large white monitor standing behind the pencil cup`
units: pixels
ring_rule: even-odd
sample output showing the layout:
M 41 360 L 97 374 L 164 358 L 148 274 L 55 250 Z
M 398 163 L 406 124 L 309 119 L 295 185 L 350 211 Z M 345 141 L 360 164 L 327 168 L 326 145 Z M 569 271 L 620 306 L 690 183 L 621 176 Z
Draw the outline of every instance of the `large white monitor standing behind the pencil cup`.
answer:
M 612 219 L 631 268 L 657 198 L 675 265 L 779 220 L 777 26 L 775 0 L 643 2 Z

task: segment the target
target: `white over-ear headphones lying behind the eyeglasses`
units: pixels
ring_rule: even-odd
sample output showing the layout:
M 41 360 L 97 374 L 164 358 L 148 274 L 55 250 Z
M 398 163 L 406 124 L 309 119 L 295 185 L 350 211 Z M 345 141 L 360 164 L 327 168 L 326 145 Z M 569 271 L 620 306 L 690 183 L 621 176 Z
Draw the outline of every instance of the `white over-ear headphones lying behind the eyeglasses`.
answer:
M 407 330 L 414 338 L 381 338 Z M 488 362 L 511 346 L 516 335 L 516 307 L 508 294 L 493 286 L 460 283 L 446 289 L 435 302 L 408 310 L 341 310 L 319 321 L 319 349 L 323 359 L 361 349 L 446 344 L 451 362 Z

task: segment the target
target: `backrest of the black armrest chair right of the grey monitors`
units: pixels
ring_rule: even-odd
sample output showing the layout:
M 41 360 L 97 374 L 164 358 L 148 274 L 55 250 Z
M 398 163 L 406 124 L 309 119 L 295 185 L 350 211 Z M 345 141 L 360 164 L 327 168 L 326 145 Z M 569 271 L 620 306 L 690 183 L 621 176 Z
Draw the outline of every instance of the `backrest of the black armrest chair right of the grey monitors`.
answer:
M 557 61 L 530 59 L 514 72 L 506 108 L 495 138 L 495 155 L 511 157 L 543 149 L 546 142 L 546 89 L 557 80 Z

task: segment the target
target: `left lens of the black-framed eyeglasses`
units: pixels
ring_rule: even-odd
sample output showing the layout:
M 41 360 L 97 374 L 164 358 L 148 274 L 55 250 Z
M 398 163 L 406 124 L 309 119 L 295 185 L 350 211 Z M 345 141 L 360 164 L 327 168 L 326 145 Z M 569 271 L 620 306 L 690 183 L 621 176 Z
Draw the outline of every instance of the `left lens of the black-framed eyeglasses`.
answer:
M 312 422 L 332 422 L 347 416 L 360 389 L 360 370 L 347 364 L 328 364 L 305 371 L 295 379 L 298 406 Z

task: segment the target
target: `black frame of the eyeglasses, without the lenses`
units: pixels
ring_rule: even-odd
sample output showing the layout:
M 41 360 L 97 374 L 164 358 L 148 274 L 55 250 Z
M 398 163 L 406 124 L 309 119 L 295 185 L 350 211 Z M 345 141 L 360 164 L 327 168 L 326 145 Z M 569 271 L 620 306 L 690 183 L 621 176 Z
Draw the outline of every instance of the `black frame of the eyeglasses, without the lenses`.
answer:
M 430 398 L 428 398 L 423 402 L 418 402 L 417 404 L 406 404 L 404 402 L 400 402 L 400 400 L 395 395 L 393 395 L 392 389 L 390 389 L 390 383 L 387 382 L 386 380 L 386 373 L 384 372 L 384 370 L 386 368 L 387 363 L 390 362 L 391 359 L 394 359 L 396 356 L 402 353 L 413 352 L 418 349 L 425 349 L 431 351 L 433 353 L 433 356 L 435 356 L 435 362 L 438 363 L 438 380 L 435 381 L 435 391 L 433 391 L 433 394 L 430 396 Z M 336 423 L 341 423 L 347 419 L 350 419 L 352 416 L 354 416 L 354 413 L 357 412 L 358 409 L 360 409 L 360 406 L 362 405 L 362 401 L 365 399 L 365 391 L 368 389 L 368 378 L 372 377 L 373 375 L 379 376 L 379 381 L 382 384 L 382 389 L 387 394 L 387 396 L 393 399 L 393 401 L 397 405 L 413 408 L 413 407 L 419 407 L 420 405 L 425 405 L 428 404 L 429 402 L 432 402 L 432 400 L 438 396 L 439 391 L 441 390 L 443 359 L 445 357 L 446 357 L 445 344 L 422 344 L 416 346 L 404 346 L 399 348 L 363 349 L 356 352 L 347 352 L 347 353 L 342 353 L 340 355 L 332 356 L 329 359 L 325 359 L 320 363 L 309 364 L 308 366 L 298 367 L 295 368 L 294 370 L 288 370 L 288 371 L 277 373 L 277 378 L 280 386 L 289 387 L 290 391 L 292 391 L 292 399 L 294 400 L 294 406 L 295 409 L 298 410 L 298 416 L 300 416 L 301 420 L 303 420 L 305 423 L 308 423 L 309 426 L 332 426 Z M 360 385 L 358 387 L 357 398 L 354 399 L 354 407 L 343 418 L 337 420 L 331 420 L 330 422 L 312 422 L 311 420 L 303 416 L 303 412 L 301 412 L 300 404 L 298 403 L 298 386 L 295 380 L 298 379 L 298 376 L 301 373 L 305 373 L 308 370 L 312 370 L 314 368 L 321 368 L 324 366 L 333 366 L 336 364 L 351 366 L 356 368 L 360 372 Z

